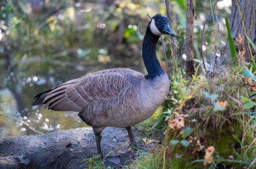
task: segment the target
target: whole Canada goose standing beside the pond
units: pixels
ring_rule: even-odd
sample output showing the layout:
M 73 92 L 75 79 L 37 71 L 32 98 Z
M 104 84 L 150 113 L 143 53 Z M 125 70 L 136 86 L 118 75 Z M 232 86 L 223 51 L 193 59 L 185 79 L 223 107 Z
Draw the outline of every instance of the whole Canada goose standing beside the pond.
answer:
M 131 144 L 136 145 L 131 126 L 148 119 L 170 88 L 168 75 L 156 58 L 156 44 L 162 34 L 175 36 L 168 18 L 156 14 L 143 39 L 142 57 L 148 75 L 127 68 L 101 70 L 36 95 L 32 105 L 77 112 L 82 121 L 92 126 L 101 156 L 100 133 L 108 126 L 126 127 Z

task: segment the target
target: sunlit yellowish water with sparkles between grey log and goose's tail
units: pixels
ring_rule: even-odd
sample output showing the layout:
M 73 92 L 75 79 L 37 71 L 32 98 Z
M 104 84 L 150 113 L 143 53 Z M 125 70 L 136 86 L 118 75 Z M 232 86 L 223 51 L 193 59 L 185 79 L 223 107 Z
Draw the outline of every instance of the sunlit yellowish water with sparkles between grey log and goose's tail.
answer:
M 28 111 L 27 116 L 18 112 L 15 97 L 8 89 L 0 91 L 0 137 L 46 133 L 59 129 L 86 127 L 82 121 L 68 117 L 63 112 L 49 111 L 40 107 Z M 38 132 L 39 131 L 39 132 Z

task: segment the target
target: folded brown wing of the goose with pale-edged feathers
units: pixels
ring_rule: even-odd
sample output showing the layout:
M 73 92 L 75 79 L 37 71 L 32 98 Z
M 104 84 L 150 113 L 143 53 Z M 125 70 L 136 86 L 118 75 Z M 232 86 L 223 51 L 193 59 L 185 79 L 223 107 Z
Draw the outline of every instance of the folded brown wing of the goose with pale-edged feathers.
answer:
M 69 80 L 49 91 L 43 103 L 55 111 L 81 112 L 89 103 L 118 98 L 127 87 L 133 85 L 131 74 L 135 75 L 136 72 L 110 69 Z

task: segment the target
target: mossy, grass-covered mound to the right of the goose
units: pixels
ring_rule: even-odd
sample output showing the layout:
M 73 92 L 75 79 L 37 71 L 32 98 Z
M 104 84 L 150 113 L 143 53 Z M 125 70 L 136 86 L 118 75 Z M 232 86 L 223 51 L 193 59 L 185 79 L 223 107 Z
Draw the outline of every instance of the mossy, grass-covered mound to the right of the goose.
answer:
M 187 162 L 203 159 L 205 149 L 209 146 L 215 148 L 214 158 L 228 159 L 230 156 L 236 156 L 239 146 L 234 135 L 238 139 L 245 135 L 243 127 L 249 119 L 248 115 L 242 117 L 241 96 L 248 97 L 248 95 L 241 76 L 230 72 L 228 76 L 198 78 L 193 86 L 184 88 L 183 86 L 183 89 L 177 89 L 174 86 L 178 93 L 176 96 L 179 96 L 175 99 L 179 102 L 175 105 L 173 112 L 185 116 L 185 127 L 192 127 L 192 132 L 189 137 L 184 138 L 182 135 L 185 127 L 183 129 L 168 128 L 163 146 L 164 148 L 168 146 L 168 158 L 176 159 L 177 156 L 181 156 Z M 187 92 L 184 93 L 184 91 Z M 218 106 L 220 107 L 217 109 Z M 170 120 L 175 117 L 176 115 L 172 114 Z M 186 139 L 189 140 L 190 145 L 185 148 L 177 144 L 172 148 L 169 145 L 171 139 L 179 141 Z M 249 144 L 253 137 L 249 136 L 247 139 Z M 160 151 L 160 156 L 162 153 L 163 151 Z

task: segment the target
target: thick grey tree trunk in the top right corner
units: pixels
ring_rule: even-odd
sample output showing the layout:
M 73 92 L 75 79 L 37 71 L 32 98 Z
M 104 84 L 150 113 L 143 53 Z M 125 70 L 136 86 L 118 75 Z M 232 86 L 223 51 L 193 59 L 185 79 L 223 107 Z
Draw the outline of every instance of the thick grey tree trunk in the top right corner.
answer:
M 241 9 L 241 13 L 239 11 L 238 5 Z M 242 15 L 242 19 L 241 19 Z M 245 30 L 243 27 L 243 23 L 245 25 Z M 249 61 L 251 58 L 251 52 L 255 54 L 255 50 L 250 52 L 249 50 L 249 42 L 247 41 L 246 35 L 251 38 L 253 42 L 256 42 L 256 1 L 255 0 L 232 0 L 232 10 L 230 15 L 230 32 L 232 38 L 234 38 L 234 42 L 236 46 L 238 43 L 236 42 L 235 38 L 238 38 L 239 34 L 243 38 L 243 48 L 245 48 L 245 60 Z M 228 42 L 226 43 L 226 48 L 224 52 L 224 56 L 226 59 L 227 64 L 231 64 L 231 57 L 230 57 L 230 49 Z M 224 60 L 222 60 L 221 64 L 225 64 Z

